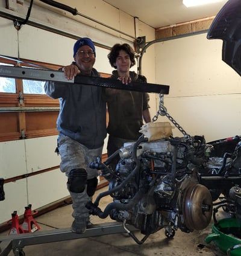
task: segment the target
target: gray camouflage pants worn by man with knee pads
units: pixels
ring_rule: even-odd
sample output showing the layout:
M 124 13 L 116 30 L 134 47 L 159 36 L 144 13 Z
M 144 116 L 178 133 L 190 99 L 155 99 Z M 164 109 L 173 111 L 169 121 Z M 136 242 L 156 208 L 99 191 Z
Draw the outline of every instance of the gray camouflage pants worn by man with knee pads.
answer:
M 87 179 L 93 179 L 98 176 L 98 171 L 89 168 L 90 162 L 94 161 L 97 156 L 102 155 L 102 147 L 98 149 L 87 149 L 74 139 L 67 136 L 58 136 L 58 151 L 61 156 L 60 170 L 68 176 L 69 172 L 76 168 L 83 168 L 87 171 Z M 70 191 L 69 191 L 70 192 Z M 83 219 L 89 216 L 89 210 L 85 207 L 90 200 L 86 189 L 83 193 L 70 192 L 73 200 L 73 214 L 75 219 Z

